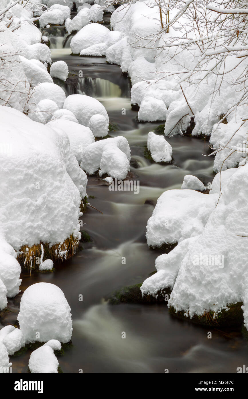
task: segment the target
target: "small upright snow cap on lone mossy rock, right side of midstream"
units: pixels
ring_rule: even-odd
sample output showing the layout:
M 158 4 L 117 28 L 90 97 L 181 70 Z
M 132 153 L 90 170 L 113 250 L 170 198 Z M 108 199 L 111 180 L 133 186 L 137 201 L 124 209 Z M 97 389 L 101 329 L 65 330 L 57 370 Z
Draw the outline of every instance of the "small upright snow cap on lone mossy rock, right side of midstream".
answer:
M 165 140 L 164 136 L 149 132 L 147 148 L 155 162 L 170 162 L 172 160 L 172 146 Z

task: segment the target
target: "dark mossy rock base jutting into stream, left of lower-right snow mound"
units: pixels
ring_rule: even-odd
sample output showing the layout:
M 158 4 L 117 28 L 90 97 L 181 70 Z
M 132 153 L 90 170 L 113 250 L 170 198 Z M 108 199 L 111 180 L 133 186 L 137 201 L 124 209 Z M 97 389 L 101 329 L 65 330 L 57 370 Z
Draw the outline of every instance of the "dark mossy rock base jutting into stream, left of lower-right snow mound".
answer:
M 115 291 L 109 298 L 109 304 L 117 305 L 120 303 L 139 303 L 139 304 L 154 304 L 154 303 L 167 303 L 164 301 L 164 295 L 168 292 L 159 292 L 158 297 L 154 298 L 151 295 L 144 295 L 142 297 L 141 288 L 142 284 L 135 284 L 127 287 L 123 287 L 118 291 Z

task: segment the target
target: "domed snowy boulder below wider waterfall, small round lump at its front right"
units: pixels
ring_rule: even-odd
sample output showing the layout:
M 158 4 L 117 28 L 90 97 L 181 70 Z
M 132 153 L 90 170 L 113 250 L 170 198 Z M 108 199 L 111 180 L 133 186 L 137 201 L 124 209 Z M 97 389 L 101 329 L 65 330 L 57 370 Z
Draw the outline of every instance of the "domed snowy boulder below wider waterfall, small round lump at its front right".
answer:
M 86 95 L 72 94 L 66 97 L 63 108 L 72 111 L 78 122 L 87 127 L 89 127 L 90 118 L 96 114 L 103 115 L 107 124 L 109 123 L 107 111 L 100 101 Z

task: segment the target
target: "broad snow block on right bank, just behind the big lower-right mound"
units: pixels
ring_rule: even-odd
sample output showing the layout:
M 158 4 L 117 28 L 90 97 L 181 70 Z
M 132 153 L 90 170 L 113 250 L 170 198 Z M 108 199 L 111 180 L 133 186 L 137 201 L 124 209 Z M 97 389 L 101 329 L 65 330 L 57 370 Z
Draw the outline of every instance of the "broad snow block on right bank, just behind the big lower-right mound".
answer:
M 218 200 L 194 190 L 168 190 L 157 200 L 146 226 L 147 244 L 160 247 L 202 233 Z

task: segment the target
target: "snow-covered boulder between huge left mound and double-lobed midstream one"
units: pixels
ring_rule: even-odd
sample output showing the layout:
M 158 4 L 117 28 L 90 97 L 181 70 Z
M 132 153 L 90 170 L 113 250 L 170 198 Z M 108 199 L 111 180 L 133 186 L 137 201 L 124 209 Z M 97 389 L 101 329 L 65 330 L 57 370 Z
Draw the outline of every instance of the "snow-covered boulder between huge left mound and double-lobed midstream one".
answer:
M 84 148 L 95 141 L 92 131 L 79 123 L 64 119 L 51 120 L 48 125 L 56 131 L 59 132 L 62 130 L 68 135 L 70 148 L 80 164 L 82 162 Z

